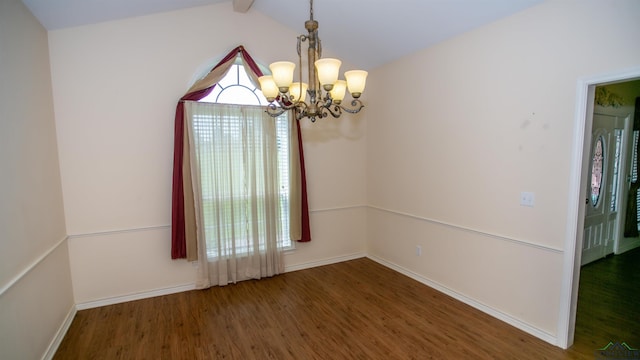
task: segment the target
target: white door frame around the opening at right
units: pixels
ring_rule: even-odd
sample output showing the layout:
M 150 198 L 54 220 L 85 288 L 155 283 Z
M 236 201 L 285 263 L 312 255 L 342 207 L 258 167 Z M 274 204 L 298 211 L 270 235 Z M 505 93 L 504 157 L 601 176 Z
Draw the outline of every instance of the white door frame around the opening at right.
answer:
M 566 349 L 573 344 L 580 280 L 580 256 L 584 226 L 584 194 L 586 187 L 588 156 L 591 146 L 595 87 L 599 84 L 640 78 L 640 66 L 608 74 L 578 79 L 576 108 L 571 154 L 569 204 L 565 237 L 560 312 L 558 317 L 557 345 Z M 585 136 L 588 135 L 588 136 Z

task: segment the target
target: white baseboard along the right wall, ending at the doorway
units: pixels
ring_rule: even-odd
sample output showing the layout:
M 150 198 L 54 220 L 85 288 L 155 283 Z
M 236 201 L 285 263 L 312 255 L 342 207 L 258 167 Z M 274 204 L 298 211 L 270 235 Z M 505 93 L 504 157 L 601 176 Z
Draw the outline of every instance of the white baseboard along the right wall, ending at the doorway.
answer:
M 454 298 L 454 299 L 456 299 L 458 301 L 461 301 L 461 302 L 463 302 L 463 303 L 465 303 L 465 304 L 467 304 L 469 306 L 472 306 L 472 307 L 474 307 L 474 308 L 476 308 L 476 309 L 478 309 L 478 310 L 480 310 L 480 311 L 482 311 L 482 312 L 484 312 L 486 314 L 489 314 L 489 315 L 493 316 L 494 318 L 496 318 L 498 320 L 504 321 L 507 324 L 509 324 L 511 326 L 514 326 L 514 327 L 516 327 L 516 328 L 518 328 L 518 329 L 520 329 L 520 330 L 522 330 L 522 331 L 524 331 L 526 333 L 529 333 L 529 334 L 531 334 L 531 335 L 533 335 L 533 336 L 535 336 L 535 337 L 537 337 L 539 339 L 542 339 L 542 340 L 544 340 L 544 341 L 546 341 L 546 342 L 548 342 L 548 343 L 550 343 L 552 345 L 558 346 L 557 337 L 552 335 L 552 334 L 549 334 L 548 332 L 546 332 L 544 330 L 541 330 L 541 329 L 533 327 L 533 326 L 531 326 L 529 324 L 526 324 L 526 323 L 522 322 L 521 320 L 518 320 L 518 319 L 516 319 L 516 318 L 514 318 L 514 317 L 512 317 L 510 315 L 507 315 L 507 314 L 505 314 L 505 313 L 503 313 L 503 312 L 501 312 L 499 310 L 496 310 L 496 309 L 494 309 L 492 307 L 489 307 L 489 306 L 487 306 L 485 304 L 482 304 L 482 303 L 480 303 L 480 302 L 478 302 L 476 300 L 473 300 L 473 299 L 471 299 L 469 297 L 466 297 L 466 296 L 464 296 L 464 295 L 462 295 L 462 294 L 460 294 L 460 293 L 458 293 L 458 292 L 456 292 L 454 290 L 451 290 L 451 289 L 447 288 L 446 286 L 443 286 L 443 285 L 441 285 L 441 284 L 439 284 L 439 283 L 437 283 L 437 282 L 435 282 L 433 280 L 425 278 L 422 275 L 418 275 L 418 274 L 414 273 L 411 270 L 405 269 L 405 268 L 403 268 L 401 266 L 398 266 L 398 265 L 396 265 L 394 263 L 391 263 L 391 262 L 389 262 L 387 260 L 384 260 L 382 258 L 379 258 L 377 256 L 373 256 L 373 255 L 367 255 L 367 257 L 369 259 L 381 264 L 381 265 L 384 265 L 384 266 L 386 266 L 386 267 L 388 267 L 390 269 L 393 269 L 393 270 L 395 270 L 395 271 L 397 271 L 397 272 L 399 272 L 399 273 L 401 273 L 403 275 L 406 275 L 406 276 L 408 276 L 408 277 L 410 277 L 410 278 L 412 278 L 412 279 L 414 279 L 416 281 L 419 281 L 419 282 L 421 282 L 421 283 L 423 283 L 423 284 L 425 284 L 425 285 L 427 285 L 427 286 L 429 286 L 431 288 L 434 288 L 435 290 L 438 290 L 441 293 L 449 295 L 449 296 L 451 296 L 452 298 Z

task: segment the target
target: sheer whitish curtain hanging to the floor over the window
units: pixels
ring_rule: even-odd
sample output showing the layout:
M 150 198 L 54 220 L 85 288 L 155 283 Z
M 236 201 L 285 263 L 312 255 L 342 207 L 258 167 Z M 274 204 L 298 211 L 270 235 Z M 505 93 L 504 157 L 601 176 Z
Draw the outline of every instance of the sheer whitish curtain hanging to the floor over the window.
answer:
M 276 123 L 262 107 L 185 102 L 197 288 L 283 272 Z

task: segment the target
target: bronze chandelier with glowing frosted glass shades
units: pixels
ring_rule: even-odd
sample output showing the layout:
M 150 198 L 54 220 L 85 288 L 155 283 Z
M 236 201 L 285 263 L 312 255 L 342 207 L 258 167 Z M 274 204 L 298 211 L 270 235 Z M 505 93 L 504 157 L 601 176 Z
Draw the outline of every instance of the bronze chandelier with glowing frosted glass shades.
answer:
M 316 118 L 324 118 L 329 114 L 334 118 L 340 117 L 342 111 L 355 114 L 364 105 L 360 95 L 364 91 L 367 72 L 351 70 L 344 73 L 346 80 L 338 80 L 340 65 L 338 59 L 322 58 L 322 45 L 318 37 L 318 22 L 313 19 L 313 0 L 310 0 L 310 19 L 305 21 L 307 35 L 298 36 L 298 64 L 299 81 L 293 82 L 296 64 L 290 61 L 277 61 L 269 65 L 272 75 L 261 76 L 260 88 L 269 101 L 267 113 L 273 117 L 279 116 L 287 110 L 294 110 L 296 119 L 305 117 L 312 122 Z M 307 66 L 308 83 L 302 82 L 302 43 L 308 41 Z M 345 107 L 343 100 L 346 90 L 353 99 L 351 107 Z M 308 98 L 308 101 L 307 101 Z

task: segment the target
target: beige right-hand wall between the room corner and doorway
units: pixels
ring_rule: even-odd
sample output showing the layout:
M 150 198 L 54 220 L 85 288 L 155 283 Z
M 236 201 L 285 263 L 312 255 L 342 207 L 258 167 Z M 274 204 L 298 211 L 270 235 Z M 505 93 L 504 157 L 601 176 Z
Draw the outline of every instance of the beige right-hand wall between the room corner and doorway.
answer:
M 639 17 L 634 0 L 547 1 L 373 71 L 368 253 L 563 336 L 576 87 L 639 64 Z

